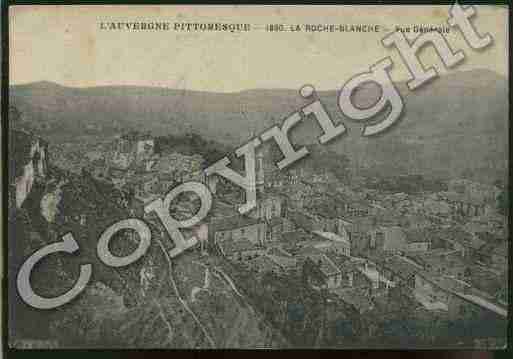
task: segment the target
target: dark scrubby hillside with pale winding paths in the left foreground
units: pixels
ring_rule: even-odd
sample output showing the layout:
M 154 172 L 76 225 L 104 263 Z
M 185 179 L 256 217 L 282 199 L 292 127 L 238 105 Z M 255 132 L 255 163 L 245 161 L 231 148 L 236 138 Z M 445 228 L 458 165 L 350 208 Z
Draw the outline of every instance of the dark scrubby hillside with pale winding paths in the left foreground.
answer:
M 41 210 L 43 198 L 63 179 L 56 215 L 48 222 Z M 172 244 L 156 228 L 152 227 L 150 248 L 136 263 L 123 268 L 102 263 L 96 254 L 101 232 L 128 217 L 118 195 L 110 186 L 88 176 L 52 168 L 9 221 L 10 293 L 16 293 L 15 273 L 27 256 L 56 241 L 62 233 L 74 234 L 80 245 L 79 257 L 55 255 L 45 259 L 45 270 L 32 275 L 34 290 L 56 296 L 63 287 L 73 285 L 77 261 L 93 266 L 86 290 L 58 310 L 34 310 L 13 295 L 9 307 L 11 345 L 17 346 L 24 338 L 58 338 L 63 348 L 288 347 L 281 333 L 218 273 L 219 264 L 213 256 L 200 256 L 191 250 L 171 263 L 164 250 Z M 87 225 L 80 224 L 81 214 L 87 214 Z M 69 220 L 65 221 L 64 216 Z M 111 250 L 116 255 L 127 255 L 135 249 L 134 243 L 124 239 L 118 236 L 112 241 Z M 140 281 L 143 267 L 155 271 L 149 287 L 143 287 Z M 205 289 L 194 293 L 195 288 Z

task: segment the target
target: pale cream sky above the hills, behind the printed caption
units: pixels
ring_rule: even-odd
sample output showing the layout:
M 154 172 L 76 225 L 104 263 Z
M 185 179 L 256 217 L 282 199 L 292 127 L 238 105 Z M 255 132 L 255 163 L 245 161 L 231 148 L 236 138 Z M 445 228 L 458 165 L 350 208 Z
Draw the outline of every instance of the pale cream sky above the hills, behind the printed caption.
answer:
M 494 44 L 468 47 L 459 31 L 447 39 L 466 60 L 453 71 L 508 73 L 507 9 L 476 6 L 473 23 Z M 390 56 L 393 80 L 407 78 L 394 49 L 380 40 L 395 26 L 441 25 L 449 6 L 15 6 L 10 8 L 10 82 L 65 86 L 163 86 L 236 92 L 254 88 L 340 88 Z M 102 22 L 250 23 L 252 31 L 102 30 Z M 266 24 L 377 24 L 379 33 L 269 33 Z M 407 34 L 410 35 L 410 34 Z M 418 34 L 416 34 L 418 35 Z M 444 73 L 435 51 L 421 59 Z

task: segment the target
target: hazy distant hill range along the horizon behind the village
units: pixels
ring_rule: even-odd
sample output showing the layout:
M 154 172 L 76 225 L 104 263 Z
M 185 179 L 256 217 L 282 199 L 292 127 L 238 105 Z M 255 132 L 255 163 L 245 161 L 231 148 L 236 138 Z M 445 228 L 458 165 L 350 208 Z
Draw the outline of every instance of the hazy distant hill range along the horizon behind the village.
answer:
M 338 110 L 337 91 L 319 95 L 349 133 L 329 144 L 355 168 L 379 174 L 423 173 L 439 177 L 504 179 L 508 153 L 507 79 L 488 70 L 440 77 L 415 92 L 397 84 L 404 100 L 400 123 L 375 138 Z M 376 91 L 356 94 L 372 103 Z M 257 89 L 211 93 L 155 87 L 69 88 L 50 82 L 11 86 L 11 103 L 25 121 L 52 141 L 105 137 L 129 129 L 155 135 L 198 133 L 237 146 L 252 132 L 280 123 L 305 101 L 297 90 Z M 291 132 L 295 143 L 315 143 L 320 129 L 303 121 Z

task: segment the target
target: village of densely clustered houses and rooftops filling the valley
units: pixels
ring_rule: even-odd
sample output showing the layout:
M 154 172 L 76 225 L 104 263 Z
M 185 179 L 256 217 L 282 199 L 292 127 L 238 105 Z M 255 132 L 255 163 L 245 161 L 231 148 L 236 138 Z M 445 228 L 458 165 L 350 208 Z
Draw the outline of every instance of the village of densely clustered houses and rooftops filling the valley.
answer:
M 12 181 L 17 207 L 35 177 L 44 176 L 48 157 L 59 158 L 56 162 L 64 169 L 113 186 L 119 193 L 117 205 L 155 228 L 158 222 L 144 212 L 145 204 L 180 183 L 205 183 L 214 205 L 205 221 L 185 231 L 199 240 L 194 260 L 219 265 L 234 288 L 252 297 L 287 333 L 316 313 L 309 320 L 322 320 L 316 326 L 322 329 L 315 330 L 314 343 L 326 338 L 354 341 L 355 336 L 369 340 L 381 330 L 379 321 L 369 318 L 396 315 L 391 311 L 421 322 L 506 322 L 508 240 L 496 186 L 455 179 L 439 191 L 385 191 L 369 188 L 363 178 L 342 183 L 329 168 L 319 172 L 299 164 L 279 171 L 262 150 L 256 158 L 257 206 L 241 215 L 237 208 L 245 199 L 240 188 L 205 176 L 201 155 L 157 153 L 150 134 L 118 136 L 82 156 L 50 156 L 43 141 L 25 147 L 24 158 L 31 160 L 17 166 L 23 173 Z M 73 158 L 86 163 L 81 167 Z M 197 211 L 198 198 L 184 197 L 171 205 L 176 218 L 190 218 Z M 45 203 L 50 206 L 48 198 Z M 94 208 L 72 207 L 62 213 L 63 226 L 95 226 Z M 163 229 L 160 233 L 163 238 Z M 160 270 L 145 263 L 139 272 L 142 297 L 150 295 L 145 291 Z M 290 293 L 280 294 L 283 290 Z M 323 303 L 322 310 L 312 310 L 301 299 L 305 291 Z M 306 324 L 303 330 L 308 330 Z M 478 346 L 502 343 L 490 335 L 474 333 L 473 338 Z

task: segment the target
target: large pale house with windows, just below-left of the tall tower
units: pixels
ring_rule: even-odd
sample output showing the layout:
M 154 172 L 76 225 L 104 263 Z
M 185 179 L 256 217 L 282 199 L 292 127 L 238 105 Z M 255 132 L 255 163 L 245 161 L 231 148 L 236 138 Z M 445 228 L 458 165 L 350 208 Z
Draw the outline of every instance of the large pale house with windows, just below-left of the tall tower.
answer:
M 225 239 L 233 241 L 248 240 L 253 244 L 264 245 L 267 241 L 265 222 L 245 216 L 212 218 L 210 233 L 215 242 Z

